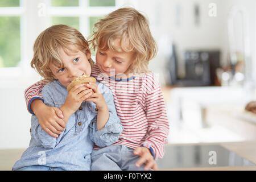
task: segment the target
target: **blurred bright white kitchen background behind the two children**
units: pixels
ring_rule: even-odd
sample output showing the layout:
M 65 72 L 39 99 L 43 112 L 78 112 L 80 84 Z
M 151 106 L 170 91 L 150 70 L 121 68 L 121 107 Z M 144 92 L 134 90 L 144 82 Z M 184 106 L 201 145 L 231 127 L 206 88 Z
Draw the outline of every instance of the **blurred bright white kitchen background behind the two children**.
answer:
M 36 37 L 68 24 L 88 38 L 118 7 L 147 15 L 158 43 L 150 63 L 170 119 L 169 143 L 256 139 L 256 1 L 0 0 L 0 149 L 26 148 L 30 117 L 24 89 L 40 80 L 30 67 Z

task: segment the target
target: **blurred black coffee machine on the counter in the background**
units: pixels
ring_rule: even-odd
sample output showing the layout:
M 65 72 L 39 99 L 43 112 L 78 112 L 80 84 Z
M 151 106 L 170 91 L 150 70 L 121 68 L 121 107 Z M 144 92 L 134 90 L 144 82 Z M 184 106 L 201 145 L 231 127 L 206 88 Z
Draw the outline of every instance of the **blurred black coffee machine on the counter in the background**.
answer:
M 187 50 L 184 51 L 185 77 L 179 77 L 178 60 L 175 46 L 167 69 L 170 85 L 176 86 L 210 86 L 216 85 L 216 69 L 220 68 L 220 51 Z

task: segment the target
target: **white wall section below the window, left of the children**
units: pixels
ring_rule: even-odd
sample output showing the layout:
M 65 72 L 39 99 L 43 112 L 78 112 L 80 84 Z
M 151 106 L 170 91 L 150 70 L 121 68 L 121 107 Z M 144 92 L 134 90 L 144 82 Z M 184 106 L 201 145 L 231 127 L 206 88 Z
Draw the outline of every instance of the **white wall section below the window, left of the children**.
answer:
M 26 109 L 24 89 L 38 79 L 0 79 L 0 149 L 28 146 L 31 114 Z

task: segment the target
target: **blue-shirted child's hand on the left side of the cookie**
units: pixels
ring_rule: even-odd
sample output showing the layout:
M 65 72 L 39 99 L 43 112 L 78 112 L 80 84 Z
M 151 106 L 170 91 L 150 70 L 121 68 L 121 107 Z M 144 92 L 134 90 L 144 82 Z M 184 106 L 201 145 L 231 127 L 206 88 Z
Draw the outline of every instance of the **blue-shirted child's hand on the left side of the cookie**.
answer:
M 65 111 L 69 114 L 75 113 L 82 104 L 82 101 L 92 96 L 92 89 L 89 89 L 85 84 L 79 84 L 74 86 L 69 92 L 66 101 L 63 105 Z

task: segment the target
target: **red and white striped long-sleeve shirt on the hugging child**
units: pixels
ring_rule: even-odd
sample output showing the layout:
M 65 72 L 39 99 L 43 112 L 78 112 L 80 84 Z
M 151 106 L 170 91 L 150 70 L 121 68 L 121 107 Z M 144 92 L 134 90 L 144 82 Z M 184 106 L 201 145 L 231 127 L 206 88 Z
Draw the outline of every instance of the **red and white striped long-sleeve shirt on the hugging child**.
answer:
M 145 146 L 151 148 L 155 158 L 164 155 L 169 122 L 162 90 L 153 73 L 133 76 L 123 80 L 104 77 L 98 65 L 94 65 L 92 76 L 113 92 L 117 115 L 121 120 L 123 132 L 113 145 L 125 145 L 130 148 Z M 42 98 L 40 92 L 46 81 L 39 81 L 25 90 L 27 108 L 32 100 Z

